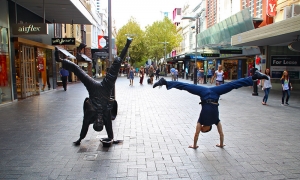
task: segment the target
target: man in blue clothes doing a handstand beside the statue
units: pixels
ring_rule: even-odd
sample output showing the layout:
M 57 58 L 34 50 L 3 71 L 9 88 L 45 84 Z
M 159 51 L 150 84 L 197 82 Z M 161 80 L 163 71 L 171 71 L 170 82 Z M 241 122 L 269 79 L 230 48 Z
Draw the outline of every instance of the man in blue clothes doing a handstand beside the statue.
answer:
M 202 109 L 200 112 L 199 119 L 197 121 L 194 143 L 193 145 L 190 145 L 189 148 L 194 148 L 194 149 L 198 148 L 197 141 L 200 135 L 200 131 L 202 133 L 209 132 L 213 124 L 217 126 L 220 135 L 220 143 L 217 144 L 216 146 L 222 148 L 225 146 L 225 144 L 224 144 L 223 129 L 219 119 L 218 100 L 220 95 L 226 94 L 233 89 L 238 89 L 243 86 L 250 86 L 253 84 L 253 81 L 257 79 L 268 79 L 268 77 L 256 71 L 252 77 L 238 79 L 235 81 L 231 81 L 227 84 L 224 84 L 222 86 L 214 86 L 214 87 L 197 86 L 189 83 L 166 81 L 164 78 L 161 78 L 158 82 L 156 82 L 153 85 L 153 88 L 157 86 L 166 85 L 167 90 L 176 88 L 200 96 L 201 99 L 200 104 L 202 106 Z

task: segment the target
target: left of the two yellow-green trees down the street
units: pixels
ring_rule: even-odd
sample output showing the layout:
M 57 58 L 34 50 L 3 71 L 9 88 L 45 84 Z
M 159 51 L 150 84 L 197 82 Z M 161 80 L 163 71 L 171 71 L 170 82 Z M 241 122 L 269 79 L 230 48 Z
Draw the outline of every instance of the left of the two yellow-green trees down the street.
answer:
M 116 37 L 116 45 L 118 50 L 124 47 L 127 37 L 126 34 L 130 34 L 130 37 L 133 38 L 129 48 L 130 64 L 134 65 L 136 62 L 144 61 L 146 57 L 144 31 L 140 28 L 140 25 L 133 17 L 131 17 L 128 23 L 118 31 Z

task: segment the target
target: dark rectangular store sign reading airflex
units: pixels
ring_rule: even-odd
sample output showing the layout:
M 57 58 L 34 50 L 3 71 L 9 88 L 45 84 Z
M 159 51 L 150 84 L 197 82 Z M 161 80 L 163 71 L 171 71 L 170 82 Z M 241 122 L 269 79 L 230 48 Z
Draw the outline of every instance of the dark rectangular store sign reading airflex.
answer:
M 48 34 L 48 24 L 45 23 L 12 24 L 11 28 L 14 35 Z

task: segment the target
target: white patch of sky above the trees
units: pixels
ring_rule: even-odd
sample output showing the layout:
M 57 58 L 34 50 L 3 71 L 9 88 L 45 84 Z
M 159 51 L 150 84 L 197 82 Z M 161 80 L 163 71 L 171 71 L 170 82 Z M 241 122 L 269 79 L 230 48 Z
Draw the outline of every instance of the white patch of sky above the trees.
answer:
M 105 1 L 105 0 L 104 0 Z M 111 0 L 112 19 L 117 30 L 134 17 L 142 29 L 163 19 L 163 12 L 172 17 L 174 8 L 182 8 L 189 0 Z

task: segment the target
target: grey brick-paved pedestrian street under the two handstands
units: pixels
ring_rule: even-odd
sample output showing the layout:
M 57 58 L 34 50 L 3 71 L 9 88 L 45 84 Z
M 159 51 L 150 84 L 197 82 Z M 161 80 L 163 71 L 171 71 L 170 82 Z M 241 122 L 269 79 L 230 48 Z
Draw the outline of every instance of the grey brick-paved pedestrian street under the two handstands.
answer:
M 280 92 L 272 90 L 268 106 L 261 105 L 262 91 L 252 96 L 250 87 L 223 95 L 225 148 L 215 146 L 214 126 L 194 150 L 187 147 L 199 97 L 134 81 L 130 87 L 125 77 L 117 80 L 113 129 L 124 142 L 109 149 L 99 142 L 105 131 L 92 127 L 79 147 L 72 145 L 87 96 L 81 83 L 0 106 L 0 179 L 300 179 L 296 92 L 290 106 L 280 106 Z

